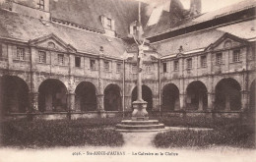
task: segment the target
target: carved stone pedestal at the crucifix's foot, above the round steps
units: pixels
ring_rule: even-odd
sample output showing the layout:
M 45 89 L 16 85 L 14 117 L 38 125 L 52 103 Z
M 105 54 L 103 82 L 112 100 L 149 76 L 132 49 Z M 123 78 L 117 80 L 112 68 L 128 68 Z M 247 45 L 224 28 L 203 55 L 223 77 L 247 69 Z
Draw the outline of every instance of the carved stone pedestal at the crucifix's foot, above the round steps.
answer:
M 148 121 L 149 114 L 146 110 L 147 108 L 146 101 L 134 101 L 133 102 L 133 113 L 132 121 Z

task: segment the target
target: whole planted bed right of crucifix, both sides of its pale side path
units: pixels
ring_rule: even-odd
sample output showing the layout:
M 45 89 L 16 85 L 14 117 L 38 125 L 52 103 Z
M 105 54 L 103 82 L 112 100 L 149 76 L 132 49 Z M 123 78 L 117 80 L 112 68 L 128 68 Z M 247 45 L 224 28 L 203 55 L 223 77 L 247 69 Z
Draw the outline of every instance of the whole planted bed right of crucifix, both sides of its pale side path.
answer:
M 213 131 L 170 131 L 154 139 L 157 147 L 210 147 L 213 145 L 255 148 L 255 125 L 250 120 L 207 118 L 162 118 L 165 126 L 211 128 Z

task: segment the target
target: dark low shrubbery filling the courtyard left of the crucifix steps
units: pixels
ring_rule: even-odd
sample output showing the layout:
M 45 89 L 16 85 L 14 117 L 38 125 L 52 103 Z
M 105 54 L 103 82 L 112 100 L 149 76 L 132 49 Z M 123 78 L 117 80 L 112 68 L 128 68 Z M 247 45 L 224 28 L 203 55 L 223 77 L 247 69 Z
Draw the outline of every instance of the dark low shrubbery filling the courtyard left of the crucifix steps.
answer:
M 1 125 L 1 145 L 20 147 L 120 146 L 122 135 L 108 127 L 117 120 L 8 121 Z

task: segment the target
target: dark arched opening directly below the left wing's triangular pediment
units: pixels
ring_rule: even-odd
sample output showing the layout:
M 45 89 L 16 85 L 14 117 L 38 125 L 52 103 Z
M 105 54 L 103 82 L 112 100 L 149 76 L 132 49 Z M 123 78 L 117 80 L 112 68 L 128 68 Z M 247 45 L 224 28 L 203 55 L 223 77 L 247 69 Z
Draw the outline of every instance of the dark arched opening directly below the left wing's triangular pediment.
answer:
M 41 82 L 38 109 L 45 111 L 67 111 L 67 88 L 61 81 L 49 79 Z

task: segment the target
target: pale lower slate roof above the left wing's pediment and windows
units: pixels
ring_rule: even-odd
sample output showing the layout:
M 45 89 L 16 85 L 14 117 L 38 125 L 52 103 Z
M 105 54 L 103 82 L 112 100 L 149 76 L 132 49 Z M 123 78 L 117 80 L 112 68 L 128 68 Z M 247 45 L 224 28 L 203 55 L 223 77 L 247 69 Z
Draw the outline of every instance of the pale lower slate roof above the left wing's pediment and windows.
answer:
M 29 41 L 54 33 L 80 52 L 98 54 L 99 47 L 103 46 L 105 55 L 121 58 L 125 51 L 124 42 L 119 38 L 51 22 L 46 24 L 48 26 L 38 19 L 0 9 L 0 37 Z

